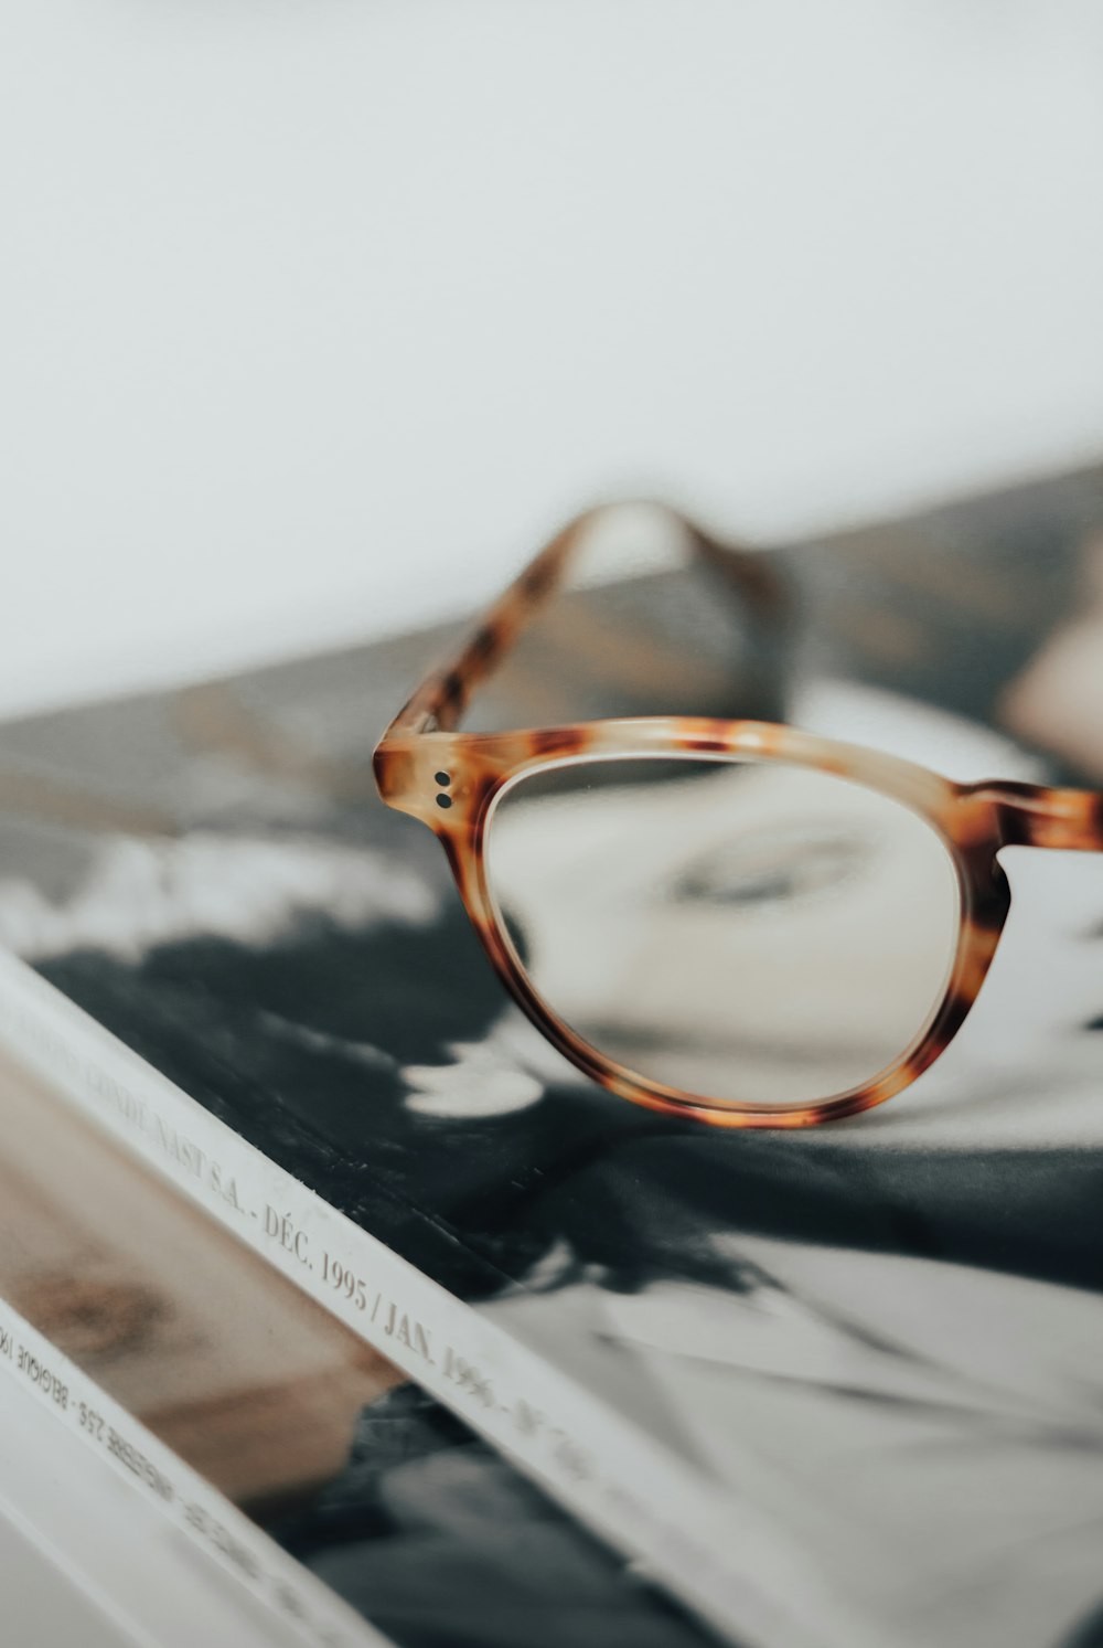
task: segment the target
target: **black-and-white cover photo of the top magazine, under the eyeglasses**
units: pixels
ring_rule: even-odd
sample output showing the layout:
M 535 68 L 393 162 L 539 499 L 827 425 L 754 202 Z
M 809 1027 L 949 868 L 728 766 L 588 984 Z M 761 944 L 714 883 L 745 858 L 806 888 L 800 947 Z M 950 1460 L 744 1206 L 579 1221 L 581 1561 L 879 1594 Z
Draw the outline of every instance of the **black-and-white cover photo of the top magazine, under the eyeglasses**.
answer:
M 958 780 L 1085 780 L 1093 761 L 1098 780 L 1098 745 L 1050 733 L 1044 707 L 1054 661 L 1078 646 L 1101 516 L 1088 475 L 789 552 L 800 626 L 766 672 L 706 672 L 701 712 L 784 714 Z M 635 593 L 629 616 L 672 610 L 665 590 Z M 556 671 L 533 639 L 525 714 L 502 694 L 487 723 L 547 719 L 565 679 L 598 697 L 634 661 L 637 695 L 686 710 L 691 671 L 670 661 L 719 656 L 718 603 L 708 618 L 688 608 L 682 644 L 652 669 L 640 630 L 626 658 L 606 644 L 603 602 L 626 605 L 606 592 L 591 630 L 566 625 L 589 636 L 588 662 Z M 698 634 L 700 656 L 685 644 Z M 535 1033 L 436 842 L 375 799 L 372 740 L 440 641 L 7 728 L 5 943 L 265 1157 L 662 1444 L 708 1503 L 754 1506 L 770 1531 L 762 1584 L 795 1595 L 800 1551 L 800 1572 L 826 1587 L 795 1602 L 812 1640 L 854 1641 L 856 1618 L 871 1641 L 907 1648 L 1090 1640 L 1103 1604 L 1098 859 L 1008 849 L 1014 906 L 984 990 L 891 1104 L 772 1132 L 660 1116 Z M 708 809 L 663 834 L 678 799 L 677 786 L 594 796 L 619 875 L 660 834 L 695 849 L 698 875 Z M 840 814 L 830 837 L 779 837 L 769 875 L 797 885 L 808 921 L 851 873 L 859 834 Z M 517 840 L 553 864 L 556 819 Z M 891 831 L 877 840 L 887 878 L 873 897 L 896 908 L 910 872 Z M 736 897 L 752 901 L 741 875 Z M 723 877 L 731 892 L 726 860 Z M 807 1042 L 782 1042 L 779 992 L 756 995 L 744 961 L 741 1056 L 836 1056 L 825 1000 L 853 1012 L 868 999 L 845 1030 L 876 1037 L 884 979 L 859 948 L 826 997 L 800 972 L 802 944 L 790 954 Z M 402 1332 L 417 1338 L 417 1323 Z

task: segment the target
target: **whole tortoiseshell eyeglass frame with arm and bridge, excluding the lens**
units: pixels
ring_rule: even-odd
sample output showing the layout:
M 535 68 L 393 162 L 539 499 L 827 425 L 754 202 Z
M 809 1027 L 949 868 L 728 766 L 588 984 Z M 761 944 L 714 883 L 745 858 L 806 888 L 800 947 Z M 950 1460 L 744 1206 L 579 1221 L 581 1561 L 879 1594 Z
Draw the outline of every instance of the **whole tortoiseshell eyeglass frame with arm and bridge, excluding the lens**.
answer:
M 382 799 L 440 837 L 459 895 L 502 982 L 537 1028 L 609 1091 L 657 1111 L 719 1127 L 808 1127 L 882 1104 L 950 1045 L 976 1000 L 1009 910 L 998 862 L 1008 845 L 1103 850 L 1103 794 L 986 780 L 956 784 L 876 750 L 759 720 L 685 715 L 594 720 L 515 732 L 458 730 L 472 691 L 502 661 L 540 606 L 560 588 L 591 527 L 616 504 L 571 521 L 491 606 L 454 658 L 417 689 L 374 756 Z M 637 506 L 635 506 L 637 508 Z M 685 544 L 731 580 L 751 615 L 769 623 L 782 600 L 770 557 L 726 545 L 662 504 L 654 508 Z M 505 934 L 486 873 L 484 844 L 504 786 L 578 756 L 710 755 L 835 773 L 917 812 L 942 839 L 956 872 L 960 931 L 945 994 L 919 1038 L 873 1081 L 810 1103 L 762 1106 L 708 1099 L 647 1081 L 583 1042 L 540 999 Z

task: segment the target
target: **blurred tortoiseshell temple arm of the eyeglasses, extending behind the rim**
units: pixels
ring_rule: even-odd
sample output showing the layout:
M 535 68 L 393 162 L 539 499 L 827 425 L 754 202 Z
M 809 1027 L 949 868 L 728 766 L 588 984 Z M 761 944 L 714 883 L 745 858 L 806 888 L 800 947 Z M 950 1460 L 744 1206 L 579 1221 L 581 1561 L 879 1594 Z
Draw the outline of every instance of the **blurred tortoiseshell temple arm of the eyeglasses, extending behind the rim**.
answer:
M 433 671 L 387 728 L 390 733 L 451 732 L 471 702 L 474 689 L 517 644 L 524 631 L 566 578 L 571 559 L 588 531 L 617 504 L 598 504 L 568 522 L 500 595 L 464 639 L 459 653 Z M 682 532 L 695 555 L 711 565 L 733 593 L 759 616 L 780 623 L 790 615 L 790 587 L 769 565 L 770 557 L 710 537 L 700 526 L 667 504 L 654 504 Z

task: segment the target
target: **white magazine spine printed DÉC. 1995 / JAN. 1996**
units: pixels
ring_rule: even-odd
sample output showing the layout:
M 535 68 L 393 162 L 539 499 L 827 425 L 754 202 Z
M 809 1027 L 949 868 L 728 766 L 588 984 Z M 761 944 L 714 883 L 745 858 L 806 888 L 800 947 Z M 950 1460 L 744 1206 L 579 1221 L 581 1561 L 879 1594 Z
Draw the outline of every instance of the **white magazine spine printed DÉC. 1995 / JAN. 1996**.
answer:
M 762 1505 L 361 1229 L 8 953 L 0 1038 L 741 1648 L 887 1648 Z

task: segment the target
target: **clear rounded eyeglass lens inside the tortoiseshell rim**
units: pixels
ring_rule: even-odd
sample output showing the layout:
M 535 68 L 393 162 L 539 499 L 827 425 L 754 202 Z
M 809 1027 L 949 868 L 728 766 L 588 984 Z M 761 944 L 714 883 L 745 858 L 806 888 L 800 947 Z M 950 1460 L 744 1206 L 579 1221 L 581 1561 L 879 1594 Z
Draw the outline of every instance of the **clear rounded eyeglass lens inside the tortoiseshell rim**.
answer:
M 586 758 L 524 775 L 487 878 L 537 995 L 629 1073 L 713 1103 L 841 1096 L 947 989 L 960 892 L 942 839 L 831 773 Z

